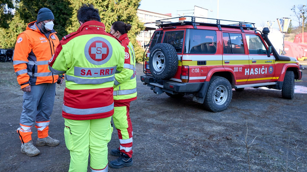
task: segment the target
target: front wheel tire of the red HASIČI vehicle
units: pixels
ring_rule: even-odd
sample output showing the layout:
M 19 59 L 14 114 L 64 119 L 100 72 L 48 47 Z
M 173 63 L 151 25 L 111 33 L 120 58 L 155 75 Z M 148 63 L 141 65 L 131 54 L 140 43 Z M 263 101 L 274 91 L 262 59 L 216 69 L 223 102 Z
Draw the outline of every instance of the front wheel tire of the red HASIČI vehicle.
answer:
M 281 88 L 281 96 L 286 99 L 293 99 L 294 97 L 294 73 L 293 71 L 286 71 L 284 82 Z

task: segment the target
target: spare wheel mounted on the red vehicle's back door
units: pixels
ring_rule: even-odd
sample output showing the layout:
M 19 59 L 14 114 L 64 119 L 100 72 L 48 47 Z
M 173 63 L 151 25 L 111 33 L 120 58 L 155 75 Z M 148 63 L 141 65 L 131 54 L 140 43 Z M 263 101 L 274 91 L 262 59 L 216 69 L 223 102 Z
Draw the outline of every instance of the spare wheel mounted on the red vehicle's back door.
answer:
M 155 45 L 149 55 L 149 68 L 157 79 L 167 80 L 174 77 L 178 68 L 176 49 L 166 43 Z

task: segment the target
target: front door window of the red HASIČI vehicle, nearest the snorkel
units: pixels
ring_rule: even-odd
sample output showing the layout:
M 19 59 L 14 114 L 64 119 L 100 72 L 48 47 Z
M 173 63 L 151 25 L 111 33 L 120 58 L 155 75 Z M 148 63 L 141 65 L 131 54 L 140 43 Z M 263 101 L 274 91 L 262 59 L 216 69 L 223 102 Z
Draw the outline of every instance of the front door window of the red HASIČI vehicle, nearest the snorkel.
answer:
M 245 37 L 249 54 L 267 54 L 267 49 L 259 35 L 245 34 Z

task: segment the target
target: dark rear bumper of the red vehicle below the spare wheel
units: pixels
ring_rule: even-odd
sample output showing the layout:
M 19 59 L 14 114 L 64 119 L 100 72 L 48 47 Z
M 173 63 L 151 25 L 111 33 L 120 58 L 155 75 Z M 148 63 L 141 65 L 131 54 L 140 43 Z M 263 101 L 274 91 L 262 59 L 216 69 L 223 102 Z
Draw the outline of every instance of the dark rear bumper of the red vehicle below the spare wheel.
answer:
M 172 80 L 157 80 L 152 76 L 141 76 L 141 81 L 146 83 L 148 87 L 159 87 L 164 92 L 177 92 L 177 93 L 192 93 L 199 92 L 204 83 L 181 83 Z

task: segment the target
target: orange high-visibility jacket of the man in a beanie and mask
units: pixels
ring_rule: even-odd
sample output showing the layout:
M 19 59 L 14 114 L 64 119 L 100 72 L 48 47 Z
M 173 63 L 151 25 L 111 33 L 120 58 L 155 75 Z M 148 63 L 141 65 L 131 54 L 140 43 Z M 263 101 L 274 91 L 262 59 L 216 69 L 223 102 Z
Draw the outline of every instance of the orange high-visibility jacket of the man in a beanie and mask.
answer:
M 48 69 L 48 61 L 59 45 L 55 33 L 50 33 L 47 38 L 33 21 L 28 24 L 26 31 L 18 35 L 13 65 L 21 89 L 29 85 L 57 82 L 59 76 Z

